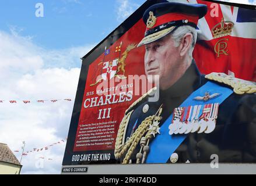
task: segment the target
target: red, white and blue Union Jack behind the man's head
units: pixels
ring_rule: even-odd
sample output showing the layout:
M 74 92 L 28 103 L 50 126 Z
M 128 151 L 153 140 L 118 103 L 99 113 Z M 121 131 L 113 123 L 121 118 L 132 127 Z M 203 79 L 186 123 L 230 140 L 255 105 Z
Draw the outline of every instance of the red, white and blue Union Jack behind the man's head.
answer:
M 212 71 L 229 74 L 232 71 L 237 78 L 256 81 L 256 10 L 223 5 L 221 2 L 177 2 L 202 3 L 208 6 L 207 14 L 198 22 L 198 39 L 193 52 L 199 71 L 203 74 Z M 213 38 L 212 28 L 221 23 L 222 19 L 234 23 L 232 32 L 230 35 Z M 222 42 L 220 40 L 226 44 L 219 46 L 219 42 Z M 218 47 L 223 46 L 226 54 L 218 56 Z

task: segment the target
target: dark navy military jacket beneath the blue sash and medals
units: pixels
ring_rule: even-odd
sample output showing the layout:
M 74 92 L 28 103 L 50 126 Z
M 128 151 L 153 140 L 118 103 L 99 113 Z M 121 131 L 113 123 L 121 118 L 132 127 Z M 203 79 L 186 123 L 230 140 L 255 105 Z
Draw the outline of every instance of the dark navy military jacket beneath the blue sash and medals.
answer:
M 120 132 L 121 128 L 118 131 L 115 145 L 116 158 L 121 159 L 123 163 L 141 163 L 141 161 L 136 161 L 138 156 L 142 156 L 141 136 L 132 137 L 139 126 L 145 123 L 145 119 L 150 119 L 150 116 L 155 115 L 162 106 L 161 120 L 159 120 L 161 127 L 167 117 L 173 113 L 174 108 L 178 108 L 192 92 L 208 81 L 210 80 L 206 79 L 205 75 L 199 73 L 193 60 L 191 66 L 174 85 L 167 90 L 160 90 L 158 101 L 149 102 L 150 95 L 139 99 L 125 113 L 123 121 L 125 120 L 126 124 L 122 132 Z M 223 83 L 218 84 L 229 87 Z M 225 99 L 219 106 L 215 130 L 210 134 L 187 134 L 185 140 L 175 151 L 178 154 L 178 162 L 185 163 L 189 160 L 191 163 L 208 163 L 211 162 L 213 154 L 218 155 L 219 162 L 256 162 L 255 98 L 255 93 L 243 95 L 233 93 Z M 168 128 L 162 128 L 162 130 L 168 130 Z M 149 141 L 145 141 L 143 146 L 148 146 L 146 151 L 150 151 L 150 141 L 153 140 L 152 137 Z M 170 159 L 166 159 L 166 162 L 170 162 Z

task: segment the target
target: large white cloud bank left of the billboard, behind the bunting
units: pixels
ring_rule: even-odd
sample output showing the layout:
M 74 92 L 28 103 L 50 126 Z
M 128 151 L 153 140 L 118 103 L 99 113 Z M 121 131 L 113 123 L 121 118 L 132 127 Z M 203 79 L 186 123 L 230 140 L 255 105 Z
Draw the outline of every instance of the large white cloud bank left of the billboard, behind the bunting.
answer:
M 37 99 L 74 100 L 78 85 L 81 56 L 93 45 L 48 51 L 33 43 L 31 37 L 20 37 L 12 30 L 0 31 L 0 142 L 12 151 L 43 148 L 65 140 L 68 135 L 73 101 L 37 103 Z M 15 104 L 9 100 L 17 100 Z M 24 104 L 23 100 L 31 100 Z M 48 151 L 23 156 L 23 174 L 59 174 L 65 144 L 57 144 Z M 38 159 L 37 155 L 45 159 Z M 20 158 L 20 152 L 16 153 Z M 48 159 L 52 160 L 48 160 Z M 44 168 L 37 168 L 38 160 Z

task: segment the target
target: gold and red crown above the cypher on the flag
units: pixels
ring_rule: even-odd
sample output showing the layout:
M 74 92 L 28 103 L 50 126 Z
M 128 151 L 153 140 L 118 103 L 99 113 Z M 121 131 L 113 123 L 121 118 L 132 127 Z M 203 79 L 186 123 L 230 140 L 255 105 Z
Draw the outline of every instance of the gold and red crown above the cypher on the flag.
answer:
M 220 23 L 216 24 L 212 28 L 213 38 L 215 39 L 215 38 L 219 38 L 219 37 L 223 37 L 223 36 L 231 34 L 233 27 L 234 27 L 233 22 L 225 21 L 222 18 L 222 21 Z

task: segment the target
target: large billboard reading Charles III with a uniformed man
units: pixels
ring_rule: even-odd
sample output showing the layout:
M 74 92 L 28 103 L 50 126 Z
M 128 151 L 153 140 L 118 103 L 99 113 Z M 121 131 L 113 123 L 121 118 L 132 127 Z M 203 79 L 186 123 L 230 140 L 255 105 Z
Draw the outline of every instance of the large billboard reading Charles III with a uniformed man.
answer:
M 255 22 L 146 1 L 83 57 L 62 165 L 255 163 Z

